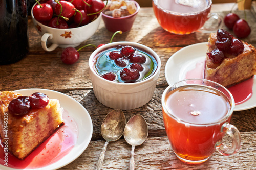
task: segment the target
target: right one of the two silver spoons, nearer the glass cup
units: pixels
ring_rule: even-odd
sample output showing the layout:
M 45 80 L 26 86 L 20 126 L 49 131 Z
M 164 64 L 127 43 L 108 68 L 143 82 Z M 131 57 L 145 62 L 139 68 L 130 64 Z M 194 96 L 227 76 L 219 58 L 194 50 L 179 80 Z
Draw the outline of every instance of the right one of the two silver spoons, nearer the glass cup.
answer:
M 148 127 L 143 116 L 137 114 L 133 116 L 126 124 L 123 132 L 124 139 L 127 143 L 132 145 L 131 159 L 129 163 L 129 170 L 135 168 L 134 163 L 134 149 L 135 146 L 141 145 L 147 139 Z

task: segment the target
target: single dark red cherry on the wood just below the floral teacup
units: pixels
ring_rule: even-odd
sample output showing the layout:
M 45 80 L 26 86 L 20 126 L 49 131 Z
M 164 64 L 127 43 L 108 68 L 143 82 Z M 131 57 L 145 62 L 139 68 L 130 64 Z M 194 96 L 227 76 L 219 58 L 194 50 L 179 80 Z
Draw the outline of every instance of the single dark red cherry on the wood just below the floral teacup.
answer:
M 67 47 L 63 50 L 60 58 L 63 63 L 71 65 L 79 60 L 80 54 L 76 48 Z

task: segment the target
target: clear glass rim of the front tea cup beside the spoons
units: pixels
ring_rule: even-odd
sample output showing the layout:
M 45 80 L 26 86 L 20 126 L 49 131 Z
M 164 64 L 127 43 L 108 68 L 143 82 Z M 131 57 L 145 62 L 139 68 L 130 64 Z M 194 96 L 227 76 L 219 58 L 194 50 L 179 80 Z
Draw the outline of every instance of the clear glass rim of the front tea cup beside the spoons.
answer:
M 230 100 L 231 100 L 231 102 L 230 102 L 230 105 L 231 105 L 231 106 L 230 106 L 230 109 L 228 110 L 228 113 L 227 113 L 224 117 L 222 117 L 221 119 L 219 119 L 219 120 L 216 121 L 216 122 L 206 123 L 206 124 L 198 124 L 198 123 L 190 123 L 190 122 L 187 122 L 187 121 L 185 121 L 185 120 L 181 120 L 181 119 L 178 118 L 177 116 L 175 116 L 175 115 L 173 115 L 172 113 L 168 112 L 168 109 L 167 109 L 167 107 L 166 107 L 166 105 L 165 105 L 165 96 L 166 96 L 167 92 L 169 92 L 169 89 L 172 88 L 174 85 L 180 83 L 180 82 L 191 81 L 191 80 L 206 81 L 206 82 L 209 82 L 209 83 L 214 83 L 214 84 L 220 86 L 222 89 L 224 89 L 224 90 L 228 93 L 228 95 L 230 96 Z M 189 85 L 189 83 L 188 83 L 187 85 Z M 196 84 L 194 84 L 194 85 L 196 85 Z M 184 85 L 182 85 L 182 86 L 184 86 Z M 182 87 L 182 86 L 180 86 L 180 87 Z M 197 86 L 199 86 L 199 85 L 197 85 Z M 202 85 L 201 85 L 201 86 L 202 86 Z M 224 94 L 224 95 L 225 95 L 225 94 Z M 228 96 L 227 96 L 227 98 L 228 98 Z M 229 99 L 228 99 L 228 100 L 229 100 Z M 185 80 L 181 80 L 181 81 L 179 81 L 179 82 L 176 82 L 176 83 L 174 83 L 173 85 L 169 85 L 169 86 L 164 90 L 164 92 L 163 92 L 163 94 L 162 94 L 161 104 L 162 104 L 162 109 L 163 109 L 169 116 L 171 116 L 172 118 L 174 118 L 174 119 L 175 119 L 177 122 L 179 122 L 179 123 L 182 123 L 182 124 L 185 124 L 185 125 L 190 125 L 190 126 L 212 126 L 212 125 L 224 123 L 224 122 L 226 122 L 226 120 L 232 115 L 233 110 L 234 110 L 234 106 L 235 106 L 233 95 L 229 92 L 229 90 L 228 90 L 226 87 L 222 86 L 222 85 L 219 84 L 219 83 L 216 83 L 216 82 L 214 82 L 214 81 L 207 80 L 207 79 L 185 79 Z

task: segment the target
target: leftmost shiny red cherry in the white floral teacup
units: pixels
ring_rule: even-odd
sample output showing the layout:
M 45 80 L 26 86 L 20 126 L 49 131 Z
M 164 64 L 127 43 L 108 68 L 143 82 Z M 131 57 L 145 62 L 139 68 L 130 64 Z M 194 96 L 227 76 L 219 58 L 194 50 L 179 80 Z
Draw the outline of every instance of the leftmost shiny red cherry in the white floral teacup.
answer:
M 33 15 L 37 21 L 49 21 L 52 19 L 53 10 L 50 4 L 37 4 L 34 6 Z

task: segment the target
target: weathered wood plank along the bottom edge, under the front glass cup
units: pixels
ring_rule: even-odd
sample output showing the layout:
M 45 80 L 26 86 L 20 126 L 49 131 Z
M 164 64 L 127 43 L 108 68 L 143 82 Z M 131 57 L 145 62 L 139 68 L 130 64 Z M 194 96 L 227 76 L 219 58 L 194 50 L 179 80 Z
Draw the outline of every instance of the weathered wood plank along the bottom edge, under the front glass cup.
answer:
M 135 147 L 135 169 L 255 169 L 256 132 L 241 133 L 242 145 L 232 156 L 220 156 L 216 151 L 206 162 L 188 165 L 181 162 L 170 147 L 167 137 L 148 138 Z M 227 137 L 225 143 L 230 143 Z M 91 141 L 86 151 L 61 169 L 94 169 L 104 141 Z M 128 169 L 131 146 L 120 139 L 111 142 L 105 153 L 102 169 Z

